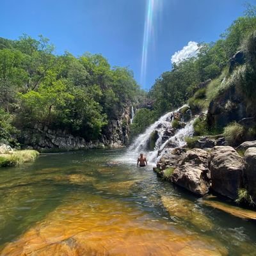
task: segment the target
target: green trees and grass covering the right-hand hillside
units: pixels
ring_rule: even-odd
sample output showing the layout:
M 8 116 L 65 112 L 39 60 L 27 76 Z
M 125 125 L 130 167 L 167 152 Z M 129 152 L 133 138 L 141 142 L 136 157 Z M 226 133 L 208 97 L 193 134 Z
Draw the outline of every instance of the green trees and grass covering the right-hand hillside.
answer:
M 248 4 L 244 16 L 232 22 L 218 41 L 200 43 L 196 57 L 173 63 L 172 70 L 156 79 L 148 93 L 153 106 L 147 115 L 152 122 L 186 102 L 194 114 L 207 110 L 211 102 L 232 86 L 245 95 L 248 108 L 253 110 L 256 96 L 255 31 L 256 7 Z M 244 52 L 246 61 L 230 70 L 230 58 L 239 50 Z M 236 102 L 232 100 L 227 101 L 225 111 L 232 110 L 234 104 Z M 134 122 L 135 125 L 143 124 Z M 196 120 L 196 135 L 223 132 L 223 127 L 210 126 L 205 118 Z

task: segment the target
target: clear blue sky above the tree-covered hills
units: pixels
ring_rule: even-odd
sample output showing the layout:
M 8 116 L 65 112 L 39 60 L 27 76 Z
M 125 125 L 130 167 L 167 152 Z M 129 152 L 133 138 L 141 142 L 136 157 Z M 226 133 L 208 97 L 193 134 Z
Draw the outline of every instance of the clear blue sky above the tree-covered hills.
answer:
M 148 36 L 145 78 L 141 56 L 145 14 L 155 1 Z M 148 90 L 162 72 L 170 70 L 171 58 L 188 42 L 212 42 L 237 17 L 244 3 L 255 0 L 0 0 L 0 36 L 17 39 L 22 33 L 44 35 L 64 51 L 79 56 L 101 53 L 113 66 L 129 67 Z

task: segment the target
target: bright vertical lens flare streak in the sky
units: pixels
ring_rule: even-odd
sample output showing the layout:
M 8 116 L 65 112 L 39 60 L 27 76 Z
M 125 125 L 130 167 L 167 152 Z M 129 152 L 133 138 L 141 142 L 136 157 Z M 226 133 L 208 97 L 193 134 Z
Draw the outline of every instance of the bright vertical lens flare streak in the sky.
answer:
M 156 19 L 157 15 L 161 10 L 161 2 L 163 0 L 147 0 L 147 9 L 145 13 L 145 24 L 144 24 L 144 36 L 142 45 L 142 56 L 141 56 L 141 72 L 140 82 L 145 85 L 145 79 L 147 74 L 147 62 L 148 62 L 148 49 L 150 42 L 154 42 Z

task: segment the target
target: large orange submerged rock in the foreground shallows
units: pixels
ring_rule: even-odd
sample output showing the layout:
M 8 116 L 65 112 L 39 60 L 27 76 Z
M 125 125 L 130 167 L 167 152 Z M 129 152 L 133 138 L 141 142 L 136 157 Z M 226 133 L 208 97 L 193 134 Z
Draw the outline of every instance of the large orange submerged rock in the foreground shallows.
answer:
M 166 225 L 159 220 L 144 220 L 143 211 L 118 200 L 90 195 L 90 203 L 79 200 L 76 193 L 43 220 L 26 230 L 12 243 L 4 244 L 4 256 L 83 256 L 83 255 L 227 255 L 216 239 Z M 76 202 L 76 203 L 74 203 Z M 199 215 L 198 215 L 199 214 Z M 200 218 L 198 223 L 211 227 Z M 140 221 L 138 221 L 140 220 Z M 142 221 L 144 220 L 144 221 Z M 201 222 L 200 222 L 201 221 Z M 158 225 L 161 225 L 159 229 Z M 158 227 L 158 228 L 157 228 Z M 203 228 L 204 228 L 203 227 Z

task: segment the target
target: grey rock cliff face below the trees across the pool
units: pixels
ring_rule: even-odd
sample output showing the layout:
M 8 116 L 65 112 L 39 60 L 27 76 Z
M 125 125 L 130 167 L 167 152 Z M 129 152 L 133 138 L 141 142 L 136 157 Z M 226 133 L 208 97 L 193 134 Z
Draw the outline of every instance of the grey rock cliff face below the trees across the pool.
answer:
M 110 120 L 102 130 L 98 140 L 86 140 L 80 136 L 74 136 L 70 132 L 61 129 L 49 129 L 46 125 L 35 125 L 33 129 L 22 131 L 20 142 L 24 147 L 60 150 L 79 150 L 88 148 L 122 148 L 129 142 L 130 132 L 130 108 L 124 108 L 117 119 Z

